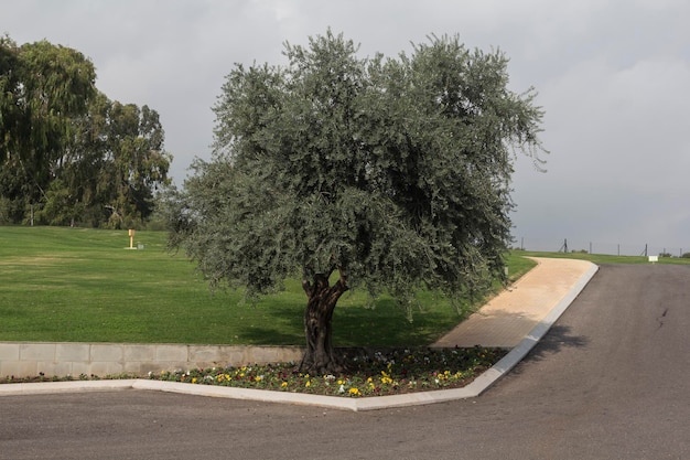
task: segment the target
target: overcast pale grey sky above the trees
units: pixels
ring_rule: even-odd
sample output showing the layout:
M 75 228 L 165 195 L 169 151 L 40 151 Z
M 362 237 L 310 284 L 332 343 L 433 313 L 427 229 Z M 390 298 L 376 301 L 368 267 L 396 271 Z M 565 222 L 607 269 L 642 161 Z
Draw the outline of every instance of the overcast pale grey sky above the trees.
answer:
M 284 41 L 331 26 L 362 56 L 430 34 L 499 47 L 551 152 L 547 173 L 516 161 L 516 245 L 634 255 L 690 252 L 689 23 L 688 0 L 0 0 L 0 33 L 80 51 L 110 99 L 160 114 L 177 184 L 211 158 L 224 77 L 284 63 Z

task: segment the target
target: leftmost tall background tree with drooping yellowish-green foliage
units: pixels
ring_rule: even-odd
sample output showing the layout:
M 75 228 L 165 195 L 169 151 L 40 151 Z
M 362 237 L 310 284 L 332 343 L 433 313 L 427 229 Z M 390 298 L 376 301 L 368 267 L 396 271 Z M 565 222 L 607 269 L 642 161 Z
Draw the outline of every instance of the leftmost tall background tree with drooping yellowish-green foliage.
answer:
M 0 38 L 0 195 L 13 202 L 15 218 L 45 200 L 74 120 L 96 94 L 95 78 L 76 50 Z

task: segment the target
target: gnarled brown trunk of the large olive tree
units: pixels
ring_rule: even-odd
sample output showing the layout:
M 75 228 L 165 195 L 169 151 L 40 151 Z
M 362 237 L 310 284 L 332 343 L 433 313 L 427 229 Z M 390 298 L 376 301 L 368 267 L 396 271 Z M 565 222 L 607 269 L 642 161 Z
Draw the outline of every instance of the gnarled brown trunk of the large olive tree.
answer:
M 331 321 L 337 300 L 347 291 L 345 278 L 341 276 L 333 286 L 330 286 L 327 275 L 316 274 L 313 284 L 303 280 L 302 287 L 306 293 L 304 311 L 306 352 L 300 364 L 300 371 L 312 375 L 341 372 L 341 363 L 333 352 Z

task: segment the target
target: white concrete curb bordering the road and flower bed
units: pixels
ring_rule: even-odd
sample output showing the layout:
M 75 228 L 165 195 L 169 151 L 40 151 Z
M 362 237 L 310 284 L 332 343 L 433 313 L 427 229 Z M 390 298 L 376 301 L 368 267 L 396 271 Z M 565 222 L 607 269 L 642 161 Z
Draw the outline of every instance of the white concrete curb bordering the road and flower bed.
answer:
M 438 389 L 405 395 L 378 396 L 368 398 L 347 398 L 341 396 L 306 395 L 302 393 L 276 392 L 251 388 L 230 388 L 214 385 L 193 385 L 176 382 L 161 382 L 149 379 L 116 379 L 116 381 L 76 381 L 76 382 L 46 382 L 20 383 L 0 385 L 1 396 L 41 395 L 82 391 L 114 391 L 114 389 L 149 389 L 159 392 L 181 393 L 185 395 L 223 397 L 233 399 L 249 399 L 265 403 L 288 403 L 319 406 L 343 410 L 375 410 L 392 407 L 418 406 L 423 404 L 443 403 L 479 396 L 499 378 L 515 367 L 529 351 L 543 338 L 560 315 L 570 307 L 578 295 L 590 282 L 599 267 L 594 264 L 578 280 L 572 289 L 561 299 L 551 312 L 537 324 L 531 332 L 506 356 L 492 368 L 479 375 L 474 382 L 463 388 Z

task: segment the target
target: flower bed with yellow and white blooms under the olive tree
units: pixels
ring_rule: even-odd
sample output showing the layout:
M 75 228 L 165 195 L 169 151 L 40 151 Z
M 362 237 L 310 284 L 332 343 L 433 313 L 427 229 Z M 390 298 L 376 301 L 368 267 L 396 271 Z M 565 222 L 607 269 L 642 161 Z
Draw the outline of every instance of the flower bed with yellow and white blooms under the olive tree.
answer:
M 150 374 L 149 378 L 330 396 L 384 396 L 465 386 L 506 353 L 487 347 L 359 350 L 345 353 L 348 371 L 338 375 L 313 376 L 299 372 L 297 363 L 284 363 L 181 370 Z

